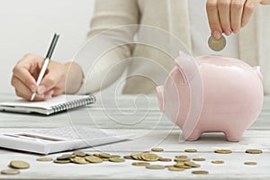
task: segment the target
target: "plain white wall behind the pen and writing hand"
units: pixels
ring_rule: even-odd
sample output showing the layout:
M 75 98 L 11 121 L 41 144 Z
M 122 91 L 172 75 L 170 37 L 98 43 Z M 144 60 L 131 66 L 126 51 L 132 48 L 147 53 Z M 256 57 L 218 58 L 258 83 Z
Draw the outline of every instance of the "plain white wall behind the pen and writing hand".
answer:
M 25 53 L 45 56 L 55 31 L 53 59 L 66 62 L 86 40 L 94 0 L 0 0 L 0 93 L 14 93 L 12 69 Z

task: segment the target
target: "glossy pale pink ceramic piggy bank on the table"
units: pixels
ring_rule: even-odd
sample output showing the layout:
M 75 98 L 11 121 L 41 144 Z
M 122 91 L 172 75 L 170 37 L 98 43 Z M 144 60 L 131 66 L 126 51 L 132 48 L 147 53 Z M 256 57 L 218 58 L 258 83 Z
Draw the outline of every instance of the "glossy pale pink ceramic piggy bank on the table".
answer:
M 181 53 L 165 85 L 157 86 L 159 107 L 182 130 L 184 139 L 223 132 L 238 141 L 259 115 L 264 99 L 259 67 L 237 58 Z

